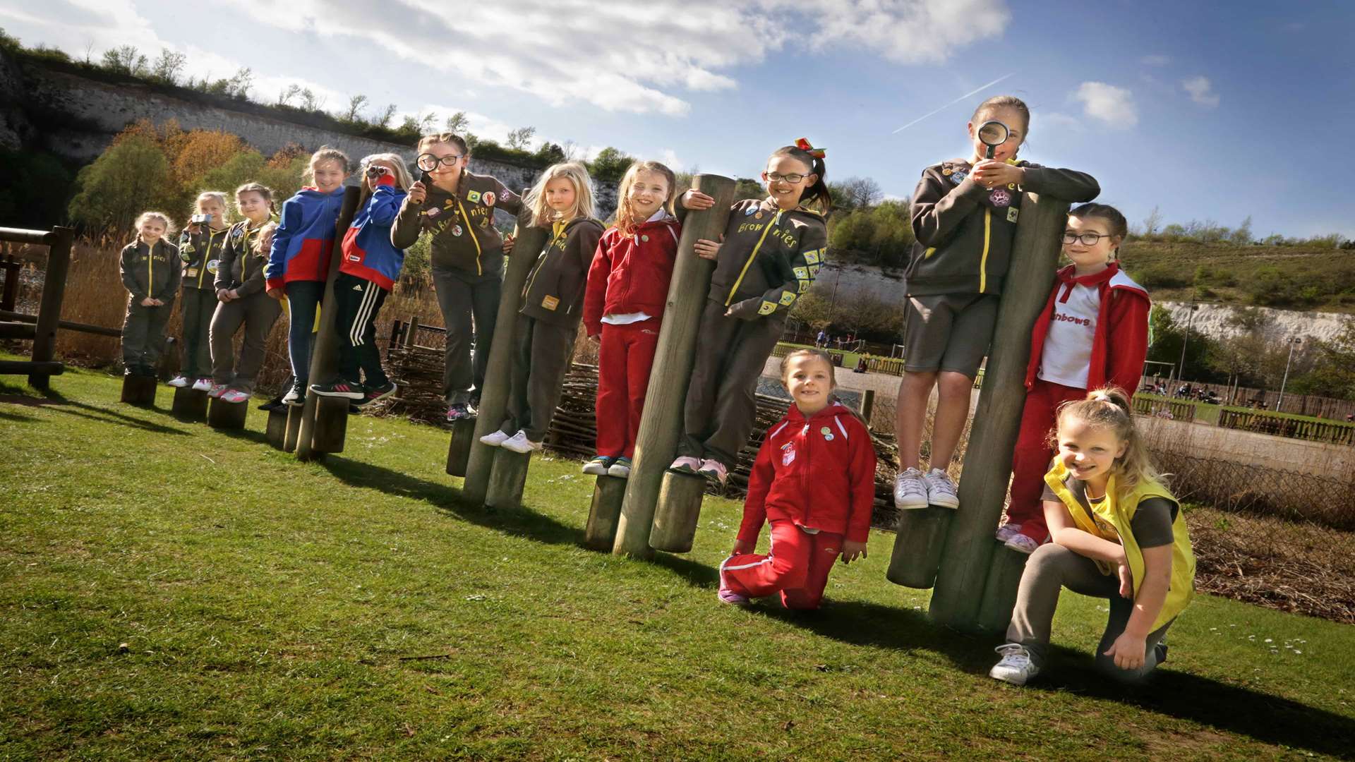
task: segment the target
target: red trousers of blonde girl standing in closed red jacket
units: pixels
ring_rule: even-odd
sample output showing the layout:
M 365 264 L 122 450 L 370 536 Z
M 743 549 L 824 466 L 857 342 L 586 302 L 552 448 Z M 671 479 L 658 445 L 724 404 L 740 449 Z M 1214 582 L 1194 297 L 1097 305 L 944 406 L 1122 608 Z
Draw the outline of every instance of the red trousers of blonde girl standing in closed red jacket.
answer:
M 659 321 L 602 324 L 598 350 L 598 454 L 635 454 L 640 414 L 645 408 L 649 369 L 659 348 Z

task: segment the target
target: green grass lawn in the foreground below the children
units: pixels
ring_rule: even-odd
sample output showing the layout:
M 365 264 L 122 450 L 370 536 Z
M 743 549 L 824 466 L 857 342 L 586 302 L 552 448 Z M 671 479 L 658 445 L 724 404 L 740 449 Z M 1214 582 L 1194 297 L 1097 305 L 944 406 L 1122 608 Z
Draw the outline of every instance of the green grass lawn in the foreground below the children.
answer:
M 15 380 L 15 377 L 9 377 Z M 1355 748 L 1350 626 L 1202 597 L 1144 689 L 1106 686 L 1099 601 L 1056 659 L 986 677 L 993 637 L 885 580 L 893 536 L 821 613 L 715 602 L 738 506 L 654 561 L 579 546 L 589 483 L 538 458 L 524 507 L 459 502 L 446 434 L 355 418 L 301 464 L 118 404 L 88 372 L 0 380 L 0 758 L 1276 758 Z M 1267 640 L 1268 639 L 1268 640 Z

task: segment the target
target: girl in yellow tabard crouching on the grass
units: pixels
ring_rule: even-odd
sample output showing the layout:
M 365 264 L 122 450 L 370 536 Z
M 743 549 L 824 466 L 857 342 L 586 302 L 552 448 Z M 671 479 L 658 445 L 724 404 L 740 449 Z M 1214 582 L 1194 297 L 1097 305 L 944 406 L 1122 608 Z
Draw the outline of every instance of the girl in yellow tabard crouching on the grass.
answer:
M 1098 389 L 1065 404 L 1057 442 L 1043 495 L 1053 542 L 1026 561 L 1008 643 L 988 674 L 1014 685 L 1039 674 L 1068 587 L 1110 601 L 1098 667 L 1142 679 L 1167 660 L 1163 637 L 1195 594 L 1186 518 L 1148 460 L 1125 392 Z

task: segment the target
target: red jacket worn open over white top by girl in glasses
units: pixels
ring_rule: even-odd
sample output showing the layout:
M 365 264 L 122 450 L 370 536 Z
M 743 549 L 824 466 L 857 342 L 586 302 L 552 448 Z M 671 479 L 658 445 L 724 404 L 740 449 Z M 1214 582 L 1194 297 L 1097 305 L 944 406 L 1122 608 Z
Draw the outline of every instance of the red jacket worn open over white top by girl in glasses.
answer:
M 1058 282 L 1031 331 L 1026 388 L 1035 385 L 1056 300 L 1068 301 L 1073 286 L 1079 285 L 1096 286 L 1100 293 L 1087 388 L 1099 389 L 1111 384 L 1133 395 L 1138 389 L 1144 359 L 1148 357 L 1148 313 L 1152 302 L 1148 292 L 1119 270 L 1118 262 L 1100 273 L 1080 278 L 1075 275 L 1072 264 L 1058 271 Z

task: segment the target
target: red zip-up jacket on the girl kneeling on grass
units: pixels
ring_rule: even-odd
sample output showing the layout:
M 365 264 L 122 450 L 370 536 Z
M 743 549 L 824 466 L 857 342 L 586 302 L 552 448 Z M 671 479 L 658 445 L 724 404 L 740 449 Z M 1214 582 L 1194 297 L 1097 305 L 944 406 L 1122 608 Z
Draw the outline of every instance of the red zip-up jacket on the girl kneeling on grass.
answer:
M 874 500 L 875 447 L 866 424 L 840 403 L 809 420 L 790 405 L 757 450 L 738 540 L 753 545 L 764 522 L 790 519 L 864 542 Z

